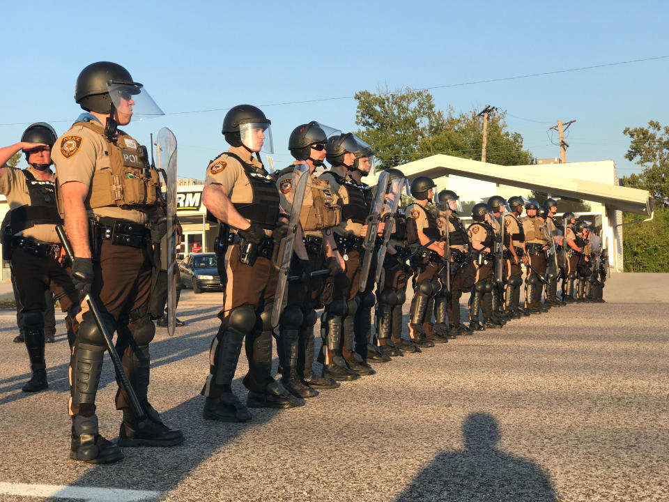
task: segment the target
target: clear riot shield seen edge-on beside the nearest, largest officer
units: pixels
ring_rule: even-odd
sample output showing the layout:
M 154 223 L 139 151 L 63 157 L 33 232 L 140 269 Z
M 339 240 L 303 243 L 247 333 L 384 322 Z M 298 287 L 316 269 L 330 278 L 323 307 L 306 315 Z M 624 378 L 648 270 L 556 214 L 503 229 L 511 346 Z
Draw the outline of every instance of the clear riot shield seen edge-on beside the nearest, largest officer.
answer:
M 168 128 L 158 131 L 155 141 L 158 170 L 165 180 L 167 204 L 167 334 L 176 328 L 176 137 Z

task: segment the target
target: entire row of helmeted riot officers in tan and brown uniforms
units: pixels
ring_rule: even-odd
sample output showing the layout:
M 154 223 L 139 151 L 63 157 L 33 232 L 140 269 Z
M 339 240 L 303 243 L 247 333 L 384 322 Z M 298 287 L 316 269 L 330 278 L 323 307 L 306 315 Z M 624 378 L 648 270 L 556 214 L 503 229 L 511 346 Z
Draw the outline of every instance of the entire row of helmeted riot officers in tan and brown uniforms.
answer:
M 15 273 L 32 371 L 23 390 L 48 386 L 43 312 L 45 290 L 50 289 L 67 314 L 70 458 L 107 464 L 123 458 L 121 447 L 174 446 L 184 440 L 180 430 L 162 422 L 148 400 L 149 345 L 169 287 L 160 252 L 167 233 L 166 203 L 146 147 L 120 128 L 133 114 L 162 112 L 128 70 L 109 61 L 82 70 L 75 101 L 84 112 L 60 137 L 47 123 L 35 123 L 21 142 L 0 149 L 0 192 L 10 207 L 3 250 Z M 528 218 L 521 221 L 523 204 L 512 198 L 511 212 L 499 227 L 506 230 L 502 236 L 494 225 L 505 205 L 493 197 L 490 206 L 475 206 L 475 222 L 465 229 L 457 216 L 458 197 L 440 192 L 433 213 L 428 203 L 435 185 L 420 176 L 410 188 L 415 202 L 406 211 L 394 211 L 401 197 L 398 187 L 406 180 L 398 169 L 387 169 L 385 186 L 376 188 L 380 195 L 364 183 L 362 178 L 374 169 L 374 154 L 360 138 L 316 121 L 302 124 L 289 139 L 295 162 L 270 174 L 260 156 L 272 151 L 270 125 L 257 107 L 231 108 L 222 127 L 229 149 L 206 169 L 203 204 L 220 224 L 216 252 L 224 305 L 201 390 L 204 418 L 243 422 L 251 418 L 249 408 L 302 406 L 319 390 L 374 374 L 370 363 L 388 362 L 560 303 L 555 295 L 557 269 L 547 275 L 553 282 L 548 282 L 543 304 L 536 279 L 544 273 L 544 229 L 555 208 L 532 208 L 530 202 L 525 206 Z M 26 153 L 27 169 L 7 165 L 19 151 Z M 307 186 L 297 197 L 297 175 L 304 169 Z M 296 197 L 303 197 L 299 208 L 293 204 Z M 295 214 L 299 225 L 290 280 L 276 298 L 277 257 L 289 241 L 286 229 Z M 378 225 L 371 225 L 373 220 Z M 64 257 L 55 231 L 63 224 L 74 251 L 71 261 Z M 571 220 L 564 240 L 555 237 L 568 256 L 558 267 L 566 284 L 562 302 L 585 295 L 578 287 L 573 294 L 574 281 L 580 284 L 578 261 L 592 252 L 587 231 L 579 225 Z M 374 229 L 370 236 L 368 229 Z M 504 245 L 503 289 L 493 281 L 496 236 L 502 236 Z M 364 250 L 370 241 L 373 247 Z M 521 262 L 533 267 L 526 280 L 526 310 L 518 302 Z M 403 337 L 402 305 L 410 280 L 414 297 L 408 337 Z M 472 289 L 470 323 L 464 326 L 459 298 Z M 118 386 L 114 404 L 123 418 L 116 443 L 99 433 L 95 396 L 105 340 L 82 293 L 95 298 L 105 327 L 116 333 L 115 349 L 146 416 L 135 415 Z M 277 301 L 280 316 L 272 323 Z M 316 355 L 314 326 L 321 308 L 323 345 Z M 280 379 L 272 377 L 273 344 Z M 243 346 L 249 363 L 243 377 L 245 402 L 232 391 Z M 314 358 L 322 363 L 318 374 Z

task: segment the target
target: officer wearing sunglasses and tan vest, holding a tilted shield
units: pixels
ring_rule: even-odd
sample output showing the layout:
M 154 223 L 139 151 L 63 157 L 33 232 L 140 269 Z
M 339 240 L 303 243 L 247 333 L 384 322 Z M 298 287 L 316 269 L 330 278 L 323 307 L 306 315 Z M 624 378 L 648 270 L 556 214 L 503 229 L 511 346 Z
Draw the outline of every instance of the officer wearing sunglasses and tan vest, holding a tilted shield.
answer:
M 334 379 L 319 377 L 312 369 L 316 309 L 321 308 L 323 299 L 327 303 L 332 301 L 332 281 L 326 280 L 323 275 L 311 277 L 310 274 L 325 268 L 338 274 L 345 268 L 344 259 L 337 251 L 332 235 L 332 227 L 341 221 L 339 195 L 330 188 L 328 181 L 314 174 L 316 167 L 323 166 L 325 143 L 333 132 L 334 129 L 316 121 L 296 127 L 288 142 L 295 163 L 277 176 L 282 207 L 289 213 L 295 193 L 295 164 L 306 162 L 309 166 L 309 181 L 300 211 L 291 267 L 291 275 L 295 273 L 301 277 L 288 284 L 277 341 L 282 382 L 286 389 L 299 397 L 314 397 L 318 395 L 314 389 L 339 386 Z

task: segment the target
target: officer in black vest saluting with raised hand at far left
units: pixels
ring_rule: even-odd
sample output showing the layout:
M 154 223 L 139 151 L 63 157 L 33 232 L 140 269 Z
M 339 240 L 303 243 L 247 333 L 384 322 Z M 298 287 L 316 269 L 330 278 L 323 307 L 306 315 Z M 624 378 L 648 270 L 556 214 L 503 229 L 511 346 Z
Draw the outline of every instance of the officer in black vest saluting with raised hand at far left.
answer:
M 49 124 L 33 123 L 23 133 L 20 143 L 0 149 L 0 193 L 6 195 L 10 208 L 9 234 L 3 236 L 3 254 L 5 259 L 11 259 L 32 372 L 30 381 L 22 387 L 24 392 L 48 387 L 44 355 L 47 289 L 60 300 L 61 310 L 68 312 L 70 346 L 77 325 L 75 314 L 79 299 L 68 272 L 58 261 L 60 245 L 55 226 L 62 220 L 56 207 L 54 173 L 50 169 L 51 148 L 56 137 Z M 6 164 L 18 151 L 26 153 L 27 169 Z M 53 305 L 53 300 L 50 303 Z

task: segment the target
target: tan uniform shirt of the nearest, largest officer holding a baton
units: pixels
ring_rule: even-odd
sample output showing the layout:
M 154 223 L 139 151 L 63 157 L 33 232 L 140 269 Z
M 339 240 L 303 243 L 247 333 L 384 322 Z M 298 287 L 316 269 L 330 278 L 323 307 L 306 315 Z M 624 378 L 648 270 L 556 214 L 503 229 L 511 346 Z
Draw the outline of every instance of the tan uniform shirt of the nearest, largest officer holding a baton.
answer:
M 52 149 L 51 157 L 56 165 L 56 178 L 59 186 L 69 181 L 79 181 L 91 189 L 93 172 L 101 169 L 109 169 L 109 154 L 106 151 L 107 144 L 103 137 L 105 128 L 97 121 L 91 121 L 99 129 L 100 134 L 75 123 L 65 134 L 56 140 Z M 137 148 L 139 142 L 132 138 L 123 138 L 125 145 Z M 134 143 L 133 143 L 134 142 Z M 90 194 L 90 192 L 89 192 Z M 104 206 L 88 209 L 86 213 L 89 218 L 118 218 L 119 220 L 130 220 L 137 223 L 148 222 L 148 213 L 139 209 L 125 209 L 118 206 Z

